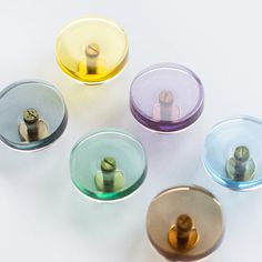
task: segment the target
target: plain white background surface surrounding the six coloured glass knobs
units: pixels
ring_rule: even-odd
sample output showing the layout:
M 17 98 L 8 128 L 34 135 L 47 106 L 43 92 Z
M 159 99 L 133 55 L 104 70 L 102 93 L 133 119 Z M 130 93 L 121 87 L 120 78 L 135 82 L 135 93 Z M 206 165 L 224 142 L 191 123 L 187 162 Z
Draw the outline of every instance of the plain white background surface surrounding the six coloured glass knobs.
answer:
M 0 0 L 0 89 L 28 78 L 50 81 L 70 117 L 62 138 L 47 150 L 19 153 L 0 145 L 0 261 L 164 261 L 149 245 L 145 214 L 155 194 L 178 184 L 202 185 L 223 205 L 225 235 L 206 261 L 261 261 L 262 190 L 231 192 L 201 163 L 214 123 L 239 114 L 262 118 L 261 9 L 254 0 Z M 71 81 L 54 59 L 59 30 L 85 14 L 111 18 L 129 36 L 127 69 L 99 88 Z M 129 88 L 140 70 L 165 61 L 200 77 L 205 109 L 191 129 L 160 135 L 132 118 Z M 100 128 L 133 133 L 149 159 L 138 193 L 114 204 L 85 199 L 70 180 L 72 145 Z

